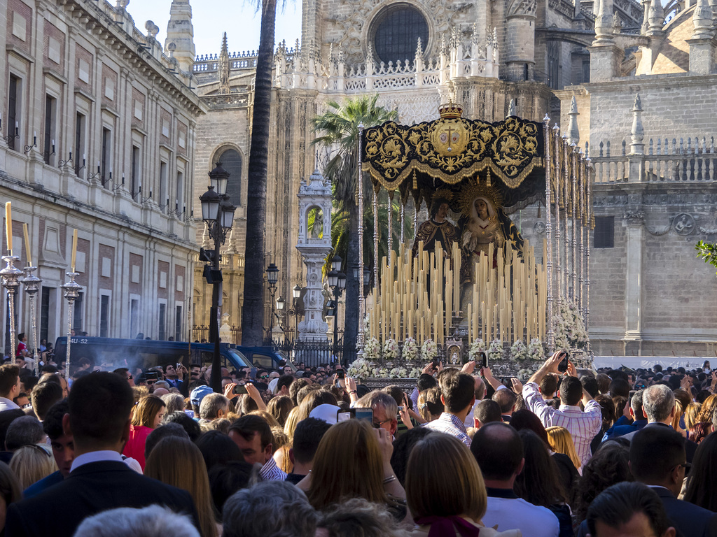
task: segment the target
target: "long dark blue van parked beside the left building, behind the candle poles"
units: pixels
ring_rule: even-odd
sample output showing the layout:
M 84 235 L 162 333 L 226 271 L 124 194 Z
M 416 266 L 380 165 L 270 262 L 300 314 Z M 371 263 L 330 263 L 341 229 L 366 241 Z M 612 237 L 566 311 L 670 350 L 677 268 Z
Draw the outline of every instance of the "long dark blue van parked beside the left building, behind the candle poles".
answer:
M 54 344 L 54 361 L 58 364 L 65 359 L 67 337 L 58 337 Z M 222 344 L 220 349 L 222 367 L 239 369 L 252 367 L 250 359 L 241 351 Z M 181 362 L 189 369 L 193 365 L 211 366 L 214 356 L 214 344 L 165 342 L 156 339 L 115 339 L 110 337 L 80 337 L 70 339 L 70 363 L 77 363 L 80 358 L 87 358 L 94 365 L 103 369 L 119 367 L 165 367 L 167 364 Z

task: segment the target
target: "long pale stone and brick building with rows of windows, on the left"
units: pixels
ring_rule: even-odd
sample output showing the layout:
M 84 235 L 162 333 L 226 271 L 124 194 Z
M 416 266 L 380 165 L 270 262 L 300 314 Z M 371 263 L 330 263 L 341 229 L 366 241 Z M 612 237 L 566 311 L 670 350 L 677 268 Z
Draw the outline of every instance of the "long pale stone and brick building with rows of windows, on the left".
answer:
M 39 330 L 49 342 L 67 333 L 60 286 L 73 229 L 77 332 L 189 337 L 194 147 L 206 105 L 191 87 L 193 47 L 168 43 L 165 54 L 158 27 L 148 21 L 139 32 L 126 4 L 0 3 L 0 192 L 12 202 L 20 267 L 29 227 L 42 279 Z M 173 4 L 174 19 L 191 14 L 188 1 Z M 17 332 L 29 332 L 28 310 L 21 287 Z M 7 334 L 4 343 L 16 344 Z

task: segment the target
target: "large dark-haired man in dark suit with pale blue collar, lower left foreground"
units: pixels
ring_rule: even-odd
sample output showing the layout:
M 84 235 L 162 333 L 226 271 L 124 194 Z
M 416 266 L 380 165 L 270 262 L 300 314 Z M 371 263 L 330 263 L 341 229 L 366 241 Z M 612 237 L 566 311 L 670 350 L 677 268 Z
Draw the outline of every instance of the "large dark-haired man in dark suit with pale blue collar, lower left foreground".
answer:
M 62 419 L 75 442 L 70 475 L 33 498 L 9 505 L 7 537 L 71 537 L 87 516 L 118 507 L 165 505 L 196 521 L 191 495 L 130 470 L 122 449 L 130 429 L 132 390 L 113 373 L 77 379 Z

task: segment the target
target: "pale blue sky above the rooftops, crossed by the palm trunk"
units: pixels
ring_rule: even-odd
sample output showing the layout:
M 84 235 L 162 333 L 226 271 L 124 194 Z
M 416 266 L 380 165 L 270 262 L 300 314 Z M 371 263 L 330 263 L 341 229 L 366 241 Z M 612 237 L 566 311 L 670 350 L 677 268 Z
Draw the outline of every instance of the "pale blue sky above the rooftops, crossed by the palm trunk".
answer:
M 279 2 L 280 4 L 281 2 Z M 196 54 L 218 54 L 222 46 L 222 32 L 227 32 L 229 52 L 259 48 L 260 13 L 255 4 L 232 0 L 190 0 Z M 144 24 L 153 21 L 159 26 L 157 39 L 164 44 L 171 0 L 134 0 L 127 10 L 135 25 L 146 33 Z M 301 3 L 286 2 L 284 12 L 277 10 L 276 41 L 285 39 L 293 44 L 301 37 Z

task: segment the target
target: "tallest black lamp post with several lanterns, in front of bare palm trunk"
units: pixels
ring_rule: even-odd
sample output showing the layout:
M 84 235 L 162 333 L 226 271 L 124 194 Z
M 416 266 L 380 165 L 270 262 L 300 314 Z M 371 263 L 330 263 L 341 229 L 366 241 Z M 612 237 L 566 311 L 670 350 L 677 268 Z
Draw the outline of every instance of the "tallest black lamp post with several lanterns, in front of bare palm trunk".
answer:
M 227 233 L 232 229 L 234 223 L 234 211 L 236 207 L 229 201 L 227 195 L 227 183 L 229 183 L 229 172 L 222 168 L 218 162 L 214 170 L 209 172 L 209 188 L 199 196 L 201 202 L 201 219 L 206 223 L 209 238 L 214 241 L 214 251 L 200 252 L 200 258 L 210 261 L 204 266 L 204 277 L 206 283 L 212 286 L 212 309 L 209 310 L 209 340 L 214 342 L 214 354 L 212 356 L 212 376 L 209 377 L 209 384 L 215 392 L 222 391 L 222 369 L 219 351 L 219 313 L 222 304 L 222 269 L 220 266 L 221 256 L 219 248 L 227 239 Z

